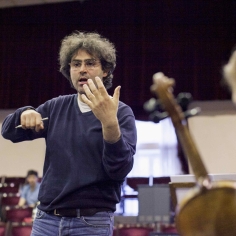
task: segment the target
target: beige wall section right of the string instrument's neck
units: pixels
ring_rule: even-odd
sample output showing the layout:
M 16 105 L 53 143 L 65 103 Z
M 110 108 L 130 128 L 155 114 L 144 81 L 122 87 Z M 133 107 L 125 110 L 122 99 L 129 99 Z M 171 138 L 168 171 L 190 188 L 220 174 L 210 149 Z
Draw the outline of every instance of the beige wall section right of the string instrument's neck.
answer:
M 235 105 L 231 101 L 196 101 L 191 106 L 202 110 L 188 124 L 208 173 L 236 173 Z

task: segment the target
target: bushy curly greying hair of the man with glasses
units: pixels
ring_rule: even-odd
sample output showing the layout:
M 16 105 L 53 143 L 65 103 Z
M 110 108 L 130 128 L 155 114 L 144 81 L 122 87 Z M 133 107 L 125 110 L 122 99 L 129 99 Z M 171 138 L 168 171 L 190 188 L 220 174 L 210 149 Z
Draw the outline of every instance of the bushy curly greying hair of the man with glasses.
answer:
M 103 78 L 103 84 L 106 89 L 109 89 L 112 86 L 112 73 L 116 67 L 114 44 L 98 33 L 80 31 L 75 31 L 62 40 L 59 52 L 60 72 L 70 81 L 73 88 L 69 63 L 79 49 L 100 59 L 103 71 L 107 72 L 107 76 Z

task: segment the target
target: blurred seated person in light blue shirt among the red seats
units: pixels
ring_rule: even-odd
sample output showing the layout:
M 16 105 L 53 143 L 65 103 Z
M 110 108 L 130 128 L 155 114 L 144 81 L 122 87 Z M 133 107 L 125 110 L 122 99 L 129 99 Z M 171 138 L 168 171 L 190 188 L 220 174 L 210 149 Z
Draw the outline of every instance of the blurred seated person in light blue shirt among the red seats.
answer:
M 39 186 L 38 172 L 35 170 L 29 170 L 26 176 L 26 184 L 20 191 L 20 200 L 18 205 L 27 205 L 34 208 L 38 202 Z

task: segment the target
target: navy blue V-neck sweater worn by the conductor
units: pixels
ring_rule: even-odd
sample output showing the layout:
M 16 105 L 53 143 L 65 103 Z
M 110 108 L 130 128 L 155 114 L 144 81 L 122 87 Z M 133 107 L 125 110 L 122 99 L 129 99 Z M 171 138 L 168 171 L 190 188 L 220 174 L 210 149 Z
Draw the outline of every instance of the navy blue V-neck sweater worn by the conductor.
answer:
M 6 117 L 2 136 L 12 142 L 45 138 L 39 209 L 105 207 L 115 211 L 136 148 L 135 118 L 130 107 L 119 102 L 121 138 L 114 144 L 104 141 L 101 122 L 92 111 L 80 111 L 77 94 L 59 96 L 40 105 L 36 111 L 49 119 L 38 133 L 15 129 L 27 108 Z

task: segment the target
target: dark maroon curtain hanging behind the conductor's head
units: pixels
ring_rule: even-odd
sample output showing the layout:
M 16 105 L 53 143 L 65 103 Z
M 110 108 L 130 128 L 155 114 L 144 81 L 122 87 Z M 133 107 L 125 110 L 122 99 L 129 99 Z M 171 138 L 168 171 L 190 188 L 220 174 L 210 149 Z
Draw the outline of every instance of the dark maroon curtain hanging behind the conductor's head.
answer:
M 220 81 L 236 44 L 235 0 L 1 0 L 1 5 L 0 109 L 38 106 L 74 93 L 57 60 L 62 38 L 74 30 L 96 31 L 114 42 L 117 68 L 110 93 L 121 85 L 121 100 L 139 120 L 148 119 L 143 104 L 153 96 L 152 76 L 159 71 L 176 80 L 176 94 L 230 97 Z

